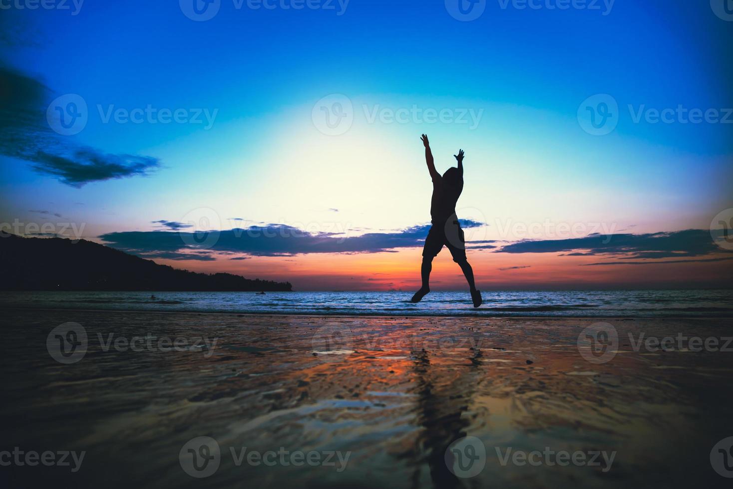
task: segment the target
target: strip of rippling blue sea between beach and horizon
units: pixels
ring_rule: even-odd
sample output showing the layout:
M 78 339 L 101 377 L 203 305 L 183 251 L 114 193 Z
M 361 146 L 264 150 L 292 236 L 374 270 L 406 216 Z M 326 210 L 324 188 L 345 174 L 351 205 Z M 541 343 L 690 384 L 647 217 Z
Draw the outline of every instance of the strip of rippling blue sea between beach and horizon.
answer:
M 368 316 L 733 317 L 733 291 L 4 292 L 0 307 Z

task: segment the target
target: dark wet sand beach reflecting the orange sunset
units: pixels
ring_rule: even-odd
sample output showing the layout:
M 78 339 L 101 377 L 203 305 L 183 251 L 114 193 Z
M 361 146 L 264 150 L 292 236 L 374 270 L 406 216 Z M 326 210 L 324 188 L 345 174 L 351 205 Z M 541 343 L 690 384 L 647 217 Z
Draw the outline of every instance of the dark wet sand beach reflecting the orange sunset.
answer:
M 710 458 L 733 436 L 730 318 L 2 318 L 0 449 L 85 454 L 2 467 L 7 487 L 728 482 Z

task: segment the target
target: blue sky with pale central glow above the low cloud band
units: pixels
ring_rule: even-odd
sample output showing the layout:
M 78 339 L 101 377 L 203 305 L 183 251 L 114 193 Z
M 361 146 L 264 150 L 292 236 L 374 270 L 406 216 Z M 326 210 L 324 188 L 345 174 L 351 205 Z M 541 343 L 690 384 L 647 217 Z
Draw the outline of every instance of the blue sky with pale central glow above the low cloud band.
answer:
M 600 221 L 653 233 L 706 228 L 733 206 L 733 124 L 636 123 L 627 107 L 721 117 L 733 107 L 733 22 L 707 1 L 559 10 L 556 0 L 536 0 L 537 9 L 494 0 L 468 22 L 443 0 L 282 7 L 291 2 L 237 10 L 221 0 L 203 22 L 177 1 L 86 0 L 78 15 L 4 10 L 5 68 L 43 83 L 47 104 L 78 94 L 88 105 L 84 130 L 62 141 L 159 164 L 148 176 L 73 187 L 6 154 L 0 217 L 45 209 L 84 221 L 92 238 L 152 230 L 152 221 L 199 208 L 214 209 L 224 228 L 232 217 L 408 228 L 429 220 L 421 132 L 439 169 L 465 149 L 471 180 L 461 204 L 474 220 Z M 312 122 L 314 104 L 330 94 L 353 104 L 353 126 L 341 135 Z M 581 102 L 596 94 L 619 105 L 608 135 L 578 124 Z M 216 117 L 208 129 L 104 123 L 97 105 Z M 480 118 L 476 127 L 368 120 L 370 111 L 413 106 Z M 496 225 L 486 234 L 506 237 Z

